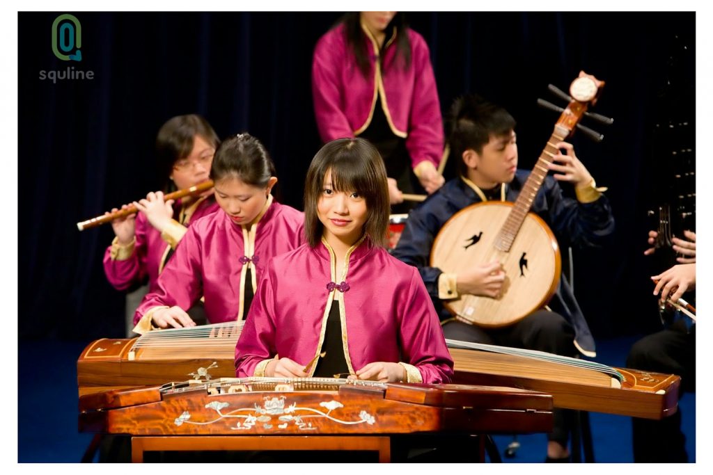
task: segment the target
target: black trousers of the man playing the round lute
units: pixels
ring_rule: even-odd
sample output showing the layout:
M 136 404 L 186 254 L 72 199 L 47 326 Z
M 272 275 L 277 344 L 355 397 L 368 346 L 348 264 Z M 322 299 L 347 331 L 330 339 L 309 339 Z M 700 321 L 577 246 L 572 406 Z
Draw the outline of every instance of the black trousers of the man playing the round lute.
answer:
M 538 310 L 502 328 L 483 328 L 451 320 L 443 324 L 443 335 L 451 340 L 546 351 L 569 357 L 577 354 L 572 325 L 562 315 L 548 310 Z M 548 440 L 567 447 L 573 416 L 569 409 L 554 409 L 553 432 L 548 434 Z

